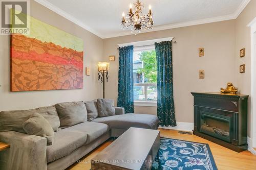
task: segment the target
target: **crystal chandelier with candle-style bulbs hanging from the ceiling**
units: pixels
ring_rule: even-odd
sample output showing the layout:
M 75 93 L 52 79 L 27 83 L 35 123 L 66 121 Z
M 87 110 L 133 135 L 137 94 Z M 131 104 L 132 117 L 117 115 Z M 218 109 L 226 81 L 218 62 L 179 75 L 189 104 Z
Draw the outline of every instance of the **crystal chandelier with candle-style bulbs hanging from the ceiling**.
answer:
M 144 3 L 139 2 L 137 0 L 134 3 L 134 8 L 132 4 L 130 4 L 130 10 L 127 16 L 123 12 L 122 14 L 122 28 L 128 29 L 131 26 L 131 30 L 139 33 L 141 30 L 153 29 L 153 14 L 151 11 L 151 5 L 148 7 L 149 11 L 147 14 L 143 14 L 142 10 L 144 9 Z

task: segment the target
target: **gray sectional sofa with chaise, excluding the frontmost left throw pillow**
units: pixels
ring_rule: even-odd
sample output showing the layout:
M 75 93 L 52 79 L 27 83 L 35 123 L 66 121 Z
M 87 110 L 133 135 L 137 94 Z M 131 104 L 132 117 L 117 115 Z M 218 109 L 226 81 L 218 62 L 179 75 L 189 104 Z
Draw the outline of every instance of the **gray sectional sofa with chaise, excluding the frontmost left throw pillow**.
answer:
M 114 107 L 113 102 L 99 104 L 95 100 L 82 104 L 71 102 L 0 112 L 0 142 L 11 144 L 10 149 L 0 152 L 0 169 L 65 169 L 130 127 L 158 128 L 159 119 L 155 115 L 124 114 L 124 109 Z M 106 114 L 109 112 L 110 115 Z M 33 113 L 41 114 L 52 127 L 51 145 L 47 145 L 46 137 L 29 135 L 23 129 Z

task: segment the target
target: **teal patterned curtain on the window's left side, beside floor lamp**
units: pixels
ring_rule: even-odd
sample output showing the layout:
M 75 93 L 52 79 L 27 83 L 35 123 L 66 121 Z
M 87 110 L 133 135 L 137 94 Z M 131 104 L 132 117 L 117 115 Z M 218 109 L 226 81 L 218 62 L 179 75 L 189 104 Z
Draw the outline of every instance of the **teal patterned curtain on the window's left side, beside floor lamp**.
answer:
M 119 47 L 117 106 L 125 113 L 134 113 L 133 104 L 133 45 Z

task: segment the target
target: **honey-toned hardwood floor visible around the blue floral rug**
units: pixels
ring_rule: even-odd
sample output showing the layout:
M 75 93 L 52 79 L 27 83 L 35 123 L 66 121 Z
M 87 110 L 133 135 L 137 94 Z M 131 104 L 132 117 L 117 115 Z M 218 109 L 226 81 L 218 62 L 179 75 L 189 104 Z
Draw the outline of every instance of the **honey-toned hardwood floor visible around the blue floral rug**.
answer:
M 180 140 L 188 140 L 194 142 L 208 143 L 210 146 L 210 150 L 212 155 L 214 155 L 215 162 L 219 170 L 253 170 L 256 169 L 256 156 L 251 154 L 249 151 L 244 151 L 241 153 L 234 152 L 227 148 L 222 147 L 216 143 L 210 142 L 206 139 L 198 137 L 196 135 L 186 135 L 180 134 L 176 130 L 167 130 L 161 129 L 160 136 L 166 138 L 174 138 Z M 112 141 L 106 141 L 102 145 L 100 145 L 93 152 L 84 156 L 81 160 L 82 163 L 74 163 L 71 165 L 69 170 L 89 170 L 91 168 L 90 160 L 100 151 L 102 151 L 105 147 L 107 147 Z

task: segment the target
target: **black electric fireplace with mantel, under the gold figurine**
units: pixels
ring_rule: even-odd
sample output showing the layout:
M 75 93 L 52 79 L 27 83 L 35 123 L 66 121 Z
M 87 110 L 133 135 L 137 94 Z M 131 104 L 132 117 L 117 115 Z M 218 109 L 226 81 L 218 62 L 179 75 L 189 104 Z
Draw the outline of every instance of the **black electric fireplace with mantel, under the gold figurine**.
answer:
M 195 135 L 241 152 L 247 149 L 248 95 L 192 93 Z

